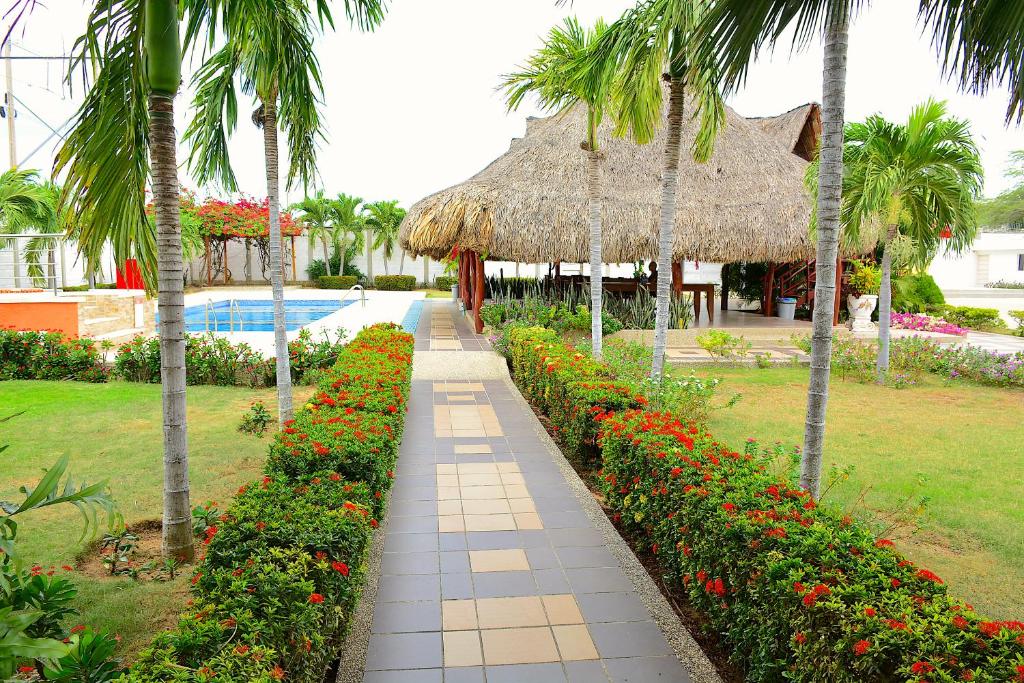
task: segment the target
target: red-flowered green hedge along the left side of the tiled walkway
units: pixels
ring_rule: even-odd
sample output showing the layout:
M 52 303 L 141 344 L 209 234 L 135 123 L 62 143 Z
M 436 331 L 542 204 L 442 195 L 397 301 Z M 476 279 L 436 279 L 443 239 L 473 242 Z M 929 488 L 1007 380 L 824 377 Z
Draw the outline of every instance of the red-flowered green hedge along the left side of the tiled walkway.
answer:
M 364 330 L 342 350 L 278 434 L 266 475 L 206 528 L 189 610 L 125 681 L 323 680 L 383 511 L 412 355 L 412 336 L 391 325 Z

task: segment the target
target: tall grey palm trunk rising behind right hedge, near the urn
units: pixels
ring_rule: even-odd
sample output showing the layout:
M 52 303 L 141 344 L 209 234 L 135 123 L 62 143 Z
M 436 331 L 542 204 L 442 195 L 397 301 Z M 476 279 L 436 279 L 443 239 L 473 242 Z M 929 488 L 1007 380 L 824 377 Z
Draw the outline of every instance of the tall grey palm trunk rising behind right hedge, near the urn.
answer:
M 836 303 L 836 260 L 839 254 L 839 212 L 843 199 L 843 125 L 846 108 L 846 57 L 849 16 L 833 22 L 825 33 L 822 70 L 821 152 L 818 170 L 818 247 L 812 314 L 811 376 L 800 464 L 800 485 L 818 497 L 825 440 L 825 409 L 831 371 L 833 315 Z

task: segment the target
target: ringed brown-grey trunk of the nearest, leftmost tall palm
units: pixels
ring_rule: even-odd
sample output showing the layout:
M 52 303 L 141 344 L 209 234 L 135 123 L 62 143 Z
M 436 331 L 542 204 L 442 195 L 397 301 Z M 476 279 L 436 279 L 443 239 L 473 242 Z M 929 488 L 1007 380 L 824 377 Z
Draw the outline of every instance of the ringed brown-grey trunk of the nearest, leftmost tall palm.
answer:
M 185 420 L 184 285 L 178 206 L 174 96 L 150 94 L 150 157 L 157 222 L 157 306 L 160 309 L 160 386 L 164 418 L 163 554 L 189 561 L 195 555 L 188 496 Z

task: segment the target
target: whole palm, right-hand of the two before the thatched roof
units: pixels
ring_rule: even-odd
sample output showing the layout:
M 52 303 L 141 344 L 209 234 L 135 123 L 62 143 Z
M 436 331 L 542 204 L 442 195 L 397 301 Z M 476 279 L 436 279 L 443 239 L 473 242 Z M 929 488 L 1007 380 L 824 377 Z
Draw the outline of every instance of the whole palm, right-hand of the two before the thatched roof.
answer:
M 725 123 L 725 102 L 719 91 L 719 69 L 714 54 L 696 29 L 713 3 L 711 0 L 641 0 L 612 24 L 595 46 L 592 65 L 601 70 L 606 59 L 617 62 L 614 93 L 616 132 L 630 132 L 639 143 L 649 142 L 662 123 L 668 94 L 668 139 L 662 175 L 662 209 L 657 230 L 657 302 L 654 323 L 654 357 L 651 377 L 659 378 L 665 366 L 672 284 L 672 238 L 679 187 L 679 154 L 682 143 L 684 93 L 695 106 L 699 128 L 691 153 L 698 163 L 714 152 L 715 138 Z M 668 92 L 663 87 L 668 83 Z

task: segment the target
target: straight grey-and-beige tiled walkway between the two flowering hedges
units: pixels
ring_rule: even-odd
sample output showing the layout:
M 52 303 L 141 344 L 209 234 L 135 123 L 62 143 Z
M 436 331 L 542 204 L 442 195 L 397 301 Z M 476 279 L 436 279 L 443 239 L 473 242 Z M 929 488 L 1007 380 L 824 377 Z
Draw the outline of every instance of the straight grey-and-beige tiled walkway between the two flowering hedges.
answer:
M 493 356 L 455 306 L 416 348 L 440 378 L 413 382 L 361 680 L 716 680 L 507 373 L 444 379 Z

